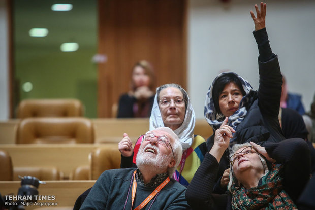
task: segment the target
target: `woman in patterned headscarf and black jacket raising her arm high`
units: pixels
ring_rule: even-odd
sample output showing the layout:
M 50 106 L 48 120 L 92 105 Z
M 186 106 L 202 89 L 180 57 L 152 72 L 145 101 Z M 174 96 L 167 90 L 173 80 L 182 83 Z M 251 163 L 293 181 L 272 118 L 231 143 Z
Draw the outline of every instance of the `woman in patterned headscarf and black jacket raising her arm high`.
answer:
M 213 131 L 222 125 L 226 117 L 227 125 L 236 131 L 220 160 L 215 187 L 217 193 L 226 191 L 229 182 L 228 154 L 234 144 L 251 141 L 264 146 L 267 142 L 279 142 L 284 138 L 278 120 L 282 75 L 278 57 L 270 48 L 265 28 L 266 4 L 261 3 L 260 6 L 261 10 L 255 5 L 257 17 L 250 12 L 255 23 L 253 34 L 259 50 L 258 91 L 253 90 L 238 74 L 223 72 L 214 79 L 206 96 L 204 114 Z M 208 151 L 213 143 L 214 134 L 207 141 Z

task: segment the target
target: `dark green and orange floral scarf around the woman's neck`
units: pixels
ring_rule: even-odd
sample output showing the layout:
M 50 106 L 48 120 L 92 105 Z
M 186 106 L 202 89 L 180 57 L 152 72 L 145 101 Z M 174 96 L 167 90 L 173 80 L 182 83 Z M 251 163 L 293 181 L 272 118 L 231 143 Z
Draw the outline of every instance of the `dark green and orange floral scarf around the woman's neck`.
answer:
M 281 169 L 272 165 L 272 169 L 262 179 L 262 185 L 245 190 L 232 183 L 232 209 L 297 209 L 290 196 L 283 190 Z

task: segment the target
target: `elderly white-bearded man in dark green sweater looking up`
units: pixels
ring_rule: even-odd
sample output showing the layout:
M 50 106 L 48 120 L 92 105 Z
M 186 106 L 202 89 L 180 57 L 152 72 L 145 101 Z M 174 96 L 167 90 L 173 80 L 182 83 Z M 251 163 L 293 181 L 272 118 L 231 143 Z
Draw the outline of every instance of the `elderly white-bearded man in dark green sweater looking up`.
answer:
M 186 188 L 172 179 L 182 156 L 178 136 L 159 127 L 143 139 L 138 168 L 104 171 L 80 209 L 190 209 Z

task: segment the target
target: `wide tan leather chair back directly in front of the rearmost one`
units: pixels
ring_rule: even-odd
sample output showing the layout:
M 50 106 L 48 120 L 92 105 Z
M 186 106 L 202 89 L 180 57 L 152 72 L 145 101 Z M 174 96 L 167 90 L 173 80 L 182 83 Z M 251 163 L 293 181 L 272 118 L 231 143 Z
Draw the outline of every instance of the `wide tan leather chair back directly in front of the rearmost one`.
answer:
M 93 142 L 92 121 L 83 117 L 25 118 L 16 133 L 17 144 Z

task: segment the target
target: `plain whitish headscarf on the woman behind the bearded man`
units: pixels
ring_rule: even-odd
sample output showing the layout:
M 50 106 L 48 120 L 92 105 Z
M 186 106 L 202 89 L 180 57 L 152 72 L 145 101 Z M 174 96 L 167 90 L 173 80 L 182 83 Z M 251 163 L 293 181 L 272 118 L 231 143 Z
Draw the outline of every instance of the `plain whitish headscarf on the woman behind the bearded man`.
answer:
M 159 103 L 157 101 L 157 93 L 159 89 L 160 89 L 159 91 L 161 91 L 162 89 L 167 88 L 167 87 L 178 88 L 181 90 L 181 92 L 184 95 L 184 100 L 186 103 L 185 104 L 186 105 L 185 118 L 182 125 L 176 130 L 174 130 L 174 132 L 178 135 L 183 150 L 186 150 L 190 148 L 193 143 L 196 117 L 195 117 L 195 111 L 188 97 L 188 94 L 180 85 L 166 84 L 166 85 L 162 85 L 156 88 L 156 94 L 154 97 L 153 107 L 152 107 L 151 116 L 150 116 L 150 130 L 154 130 L 157 127 L 165 126 L 162 119 L 161 111 L 159 108 Z

